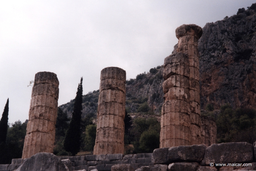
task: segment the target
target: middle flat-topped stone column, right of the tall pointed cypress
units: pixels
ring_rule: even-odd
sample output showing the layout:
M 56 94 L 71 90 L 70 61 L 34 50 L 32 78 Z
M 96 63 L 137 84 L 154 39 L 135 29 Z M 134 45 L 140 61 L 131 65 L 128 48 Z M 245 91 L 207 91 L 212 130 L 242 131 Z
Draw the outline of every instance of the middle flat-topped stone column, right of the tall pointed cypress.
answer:
M 94 154 L 124 153 L 125 82 L 126 71 L 121 68 L 101 71 Z

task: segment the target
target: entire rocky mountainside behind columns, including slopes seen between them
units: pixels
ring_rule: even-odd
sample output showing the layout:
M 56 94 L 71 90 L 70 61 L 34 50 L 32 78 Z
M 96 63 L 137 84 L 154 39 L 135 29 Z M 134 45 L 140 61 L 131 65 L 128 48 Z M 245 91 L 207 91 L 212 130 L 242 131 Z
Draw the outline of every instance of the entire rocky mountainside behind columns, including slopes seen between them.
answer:
M 236 15 L 203 27 L 198 41 L 200 55 L 201 109 L 213 104 L 215 109 L 230 103 L 234 108 L 256 109 L 256 3 Z M 177 45 L 174 47 L 177 48 Z M 164 63 L 164 61 L 163 61 Z M 160 114 L 164 100 L 163 66 L 151 68 L 126 81 L 128 113 Z M 82 117 L 96 114 L 99 91 L 83 96 Z M 61 105 L 69 117 L 74 100 Z M 144 112 L 145 113 L 145 112 Z

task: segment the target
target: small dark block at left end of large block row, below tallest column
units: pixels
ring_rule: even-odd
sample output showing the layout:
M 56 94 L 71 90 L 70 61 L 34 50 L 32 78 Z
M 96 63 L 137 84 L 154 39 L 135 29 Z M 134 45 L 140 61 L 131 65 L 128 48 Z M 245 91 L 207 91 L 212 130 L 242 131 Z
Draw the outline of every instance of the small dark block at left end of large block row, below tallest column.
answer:
M 169 148 L 154 149 L 152 154 L 152 162 L 154 164 L 167 164 L 167 155 Z

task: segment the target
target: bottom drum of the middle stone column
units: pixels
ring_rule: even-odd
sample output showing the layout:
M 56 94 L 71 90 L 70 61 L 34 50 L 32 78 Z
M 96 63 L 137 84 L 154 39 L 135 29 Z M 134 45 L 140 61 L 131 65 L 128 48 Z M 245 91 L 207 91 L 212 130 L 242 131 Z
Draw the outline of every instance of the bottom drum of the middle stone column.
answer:
M 102 141 L 96 142 L 94 154 L 120 154 L 124 153 L 124 143 Z

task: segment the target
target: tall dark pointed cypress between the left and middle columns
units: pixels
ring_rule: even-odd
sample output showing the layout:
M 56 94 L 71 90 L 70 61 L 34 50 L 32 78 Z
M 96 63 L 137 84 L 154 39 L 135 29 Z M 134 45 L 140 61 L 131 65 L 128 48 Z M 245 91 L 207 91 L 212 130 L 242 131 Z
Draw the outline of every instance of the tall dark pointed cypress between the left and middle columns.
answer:
M 69 128 L 64 139 L 64 148 L 75 156 L 80 150 L 81 139 L 81 115 L 82 115 L 82 77 L 76 92 L 74 109 Z

